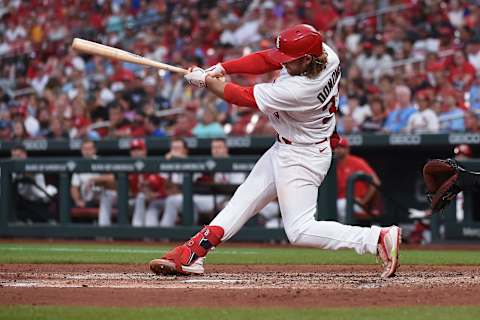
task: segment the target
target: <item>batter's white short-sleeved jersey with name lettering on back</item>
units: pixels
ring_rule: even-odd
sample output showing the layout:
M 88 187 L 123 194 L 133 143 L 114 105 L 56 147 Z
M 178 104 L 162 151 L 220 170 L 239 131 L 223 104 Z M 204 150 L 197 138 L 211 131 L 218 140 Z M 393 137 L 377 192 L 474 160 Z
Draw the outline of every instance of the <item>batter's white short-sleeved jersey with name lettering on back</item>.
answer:
M 295 143 L 316 143 L 335 129 L 340 60 L 325 43 L 326 68 L 314 79 L 291 76 L 282 68 L 273 83 L 257 84 L 253 95 L 277 133 Z

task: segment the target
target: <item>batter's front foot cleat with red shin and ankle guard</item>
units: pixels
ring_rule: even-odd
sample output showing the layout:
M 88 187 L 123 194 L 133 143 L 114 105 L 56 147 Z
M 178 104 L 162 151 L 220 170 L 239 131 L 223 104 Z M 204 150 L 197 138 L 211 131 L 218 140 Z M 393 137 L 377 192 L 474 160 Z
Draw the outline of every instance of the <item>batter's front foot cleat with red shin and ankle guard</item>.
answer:
M 220 244 L 224 230 L 219 226 L 205 226 L 190 240 L 167 252 L 162 258 L 150 261 L 150 270 L 156 274 L 202 274 L 203 257 Z

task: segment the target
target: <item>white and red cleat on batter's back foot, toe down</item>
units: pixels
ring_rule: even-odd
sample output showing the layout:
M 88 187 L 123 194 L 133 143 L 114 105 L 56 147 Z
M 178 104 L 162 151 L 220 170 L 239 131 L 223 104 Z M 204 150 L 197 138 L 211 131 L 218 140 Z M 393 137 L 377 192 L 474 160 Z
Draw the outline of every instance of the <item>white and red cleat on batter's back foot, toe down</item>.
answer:
M 400 243 L 402 242 L 402 229 L 397 226 L 382 228 L 377 246 L 377 256 L 381 259 L 384 270 L 382 278 L 389 278 L 395 275 L 400 266 L 398 259 Z

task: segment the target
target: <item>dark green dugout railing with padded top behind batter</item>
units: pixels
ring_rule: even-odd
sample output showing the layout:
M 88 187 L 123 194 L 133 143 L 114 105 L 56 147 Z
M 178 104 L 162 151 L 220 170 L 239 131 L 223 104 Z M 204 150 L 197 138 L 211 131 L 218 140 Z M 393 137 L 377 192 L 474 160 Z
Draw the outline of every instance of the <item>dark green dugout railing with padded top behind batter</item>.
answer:
M 132 159 L 129 157 L 101 158 L 98 160 L 76 158 L 29 158 L 27 160 L 0 161 L 0 236 L 1 237 L 48 237 L 48 238 L 93 238 L 115 239 L 169 239 L 185 240 L 199 230 L 193 217 L 193 181 L 196 172 L 249 172 L 258 157 L 191 157 L 188 159 L 165 160 L 164 158 Z M 73 223 L 70 216 L 70 179 L 73 173 L 96 172 L 114 173 L 117 183 L 117 218 L 111 226 L 97 226 L 92 223 Z M 182 225 L 172 228 L 132 227 L 128 207 L 128 174 L 146 172 L 183 173 Z M 325 183 L 319 189 L 318 219 L 332 219 L 336 216 L 336 183 L 330 171 Z M 11 221 L 13 210 L 12 174 L 43 173 L 55 174 L 59 178 L 57 224 L 19 224 Z M 286 240 L 283 229 L 267 229 L 260 226 L 245 226 L 235 240 L 282 241 Z

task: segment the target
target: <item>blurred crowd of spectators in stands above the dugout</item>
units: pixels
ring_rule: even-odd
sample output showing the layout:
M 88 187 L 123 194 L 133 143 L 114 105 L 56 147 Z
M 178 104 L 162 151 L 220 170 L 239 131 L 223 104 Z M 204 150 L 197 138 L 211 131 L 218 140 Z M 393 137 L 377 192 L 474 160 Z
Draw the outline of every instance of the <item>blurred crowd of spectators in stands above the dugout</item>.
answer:
M 479 0 L 4 0 L 0 17 L 0 139 L 272 135 L 259 112 L 179 74 L 70 45 L 208 67 L 271 48 L 298 23 L 340 56 L 340 133 L 480 131 Z

